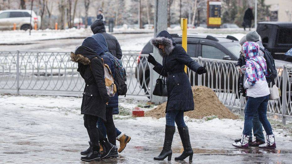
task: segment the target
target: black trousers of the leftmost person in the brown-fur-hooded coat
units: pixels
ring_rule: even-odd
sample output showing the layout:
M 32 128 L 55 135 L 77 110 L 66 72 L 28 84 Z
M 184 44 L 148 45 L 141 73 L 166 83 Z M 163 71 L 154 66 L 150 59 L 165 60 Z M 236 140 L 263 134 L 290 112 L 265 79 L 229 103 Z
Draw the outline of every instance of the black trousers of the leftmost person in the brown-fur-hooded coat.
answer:
M 96 123 L 99 117 L 84 114 L 84 127 L 87 130 L 91 143 L 95 146 L 99 145 L 99 141 L 104 139 L 102 132 L 96 127 Z

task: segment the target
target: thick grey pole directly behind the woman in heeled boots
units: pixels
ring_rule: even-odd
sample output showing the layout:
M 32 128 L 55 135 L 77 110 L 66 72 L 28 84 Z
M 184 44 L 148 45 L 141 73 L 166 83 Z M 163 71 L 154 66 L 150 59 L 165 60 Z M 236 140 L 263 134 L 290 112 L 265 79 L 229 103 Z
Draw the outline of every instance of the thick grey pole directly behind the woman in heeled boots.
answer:
M 154 0 L 154 37 L 156 35 L 163 31 L 167 30 L 167 1 L 165 0 Z M 156 59 L 157 62 L 162 64 L 162 57 L 158 53 L 158 50 L 153 47 L 153 56 Z M 153 71 L 153 65 L 151 65 L 150 68 L 150 87 L 151 88 L 151 94 L 153 93 L 154 86 L 156 84 L 156 79 L 158 79 L 159 74 Z M 155 104 L 160 104 L 166 101 L 166 97 L 160 97 L 160 96 L 154 96 L 151 95 L 151 102 L 154 102 Z

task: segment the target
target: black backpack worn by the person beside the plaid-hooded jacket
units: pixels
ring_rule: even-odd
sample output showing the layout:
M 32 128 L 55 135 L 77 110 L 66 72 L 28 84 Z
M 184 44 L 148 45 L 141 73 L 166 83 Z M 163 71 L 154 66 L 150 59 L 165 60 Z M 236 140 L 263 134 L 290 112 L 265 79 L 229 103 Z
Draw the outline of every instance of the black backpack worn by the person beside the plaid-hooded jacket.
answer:
M 265 48 L 261 48 L 260 50 L 264 52 L 264 58 L 266 59 L 267 63 L 267 75 L 266 80 L 268 83 L 272 82 L 272 85 L 275 85 L 275 78 L 277 77 L 278 73 L 275 67 L 275 60 L 273 59 L 271 53 Z

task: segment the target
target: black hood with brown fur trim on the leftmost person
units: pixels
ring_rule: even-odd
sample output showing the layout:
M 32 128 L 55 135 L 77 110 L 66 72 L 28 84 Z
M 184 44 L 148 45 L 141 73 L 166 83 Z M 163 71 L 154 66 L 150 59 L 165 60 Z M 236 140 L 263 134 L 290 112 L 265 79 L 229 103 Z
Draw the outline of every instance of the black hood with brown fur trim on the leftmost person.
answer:
M 90 60 L 95 57 L 100 58 L 95 51 L 86 46 L 78 47 L 75 50 L 75 53 L 71 52 L 71 61 L 78 62 L 83 65 L 89 65 Z

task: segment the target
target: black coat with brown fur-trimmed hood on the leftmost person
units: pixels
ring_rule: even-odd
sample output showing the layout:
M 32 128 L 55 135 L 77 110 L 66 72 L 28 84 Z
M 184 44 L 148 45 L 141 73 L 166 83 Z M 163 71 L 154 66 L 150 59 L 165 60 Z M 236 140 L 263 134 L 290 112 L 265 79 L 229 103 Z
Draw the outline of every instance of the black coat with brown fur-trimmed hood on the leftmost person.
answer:
M 100 49 L 100 53 L 103 53 L 101 47 Z M 75 53 L 71 52 L 71 60 L 78 62 L 77 71 L 85 81 L 81 114 L 93 115 L 105 120 L 105 103 L 110 97 L 105 88 L 105 72 L 101 58 L 92 49 L 80 46 Z

